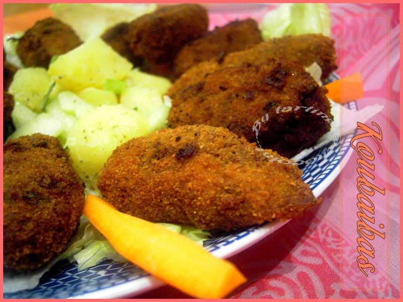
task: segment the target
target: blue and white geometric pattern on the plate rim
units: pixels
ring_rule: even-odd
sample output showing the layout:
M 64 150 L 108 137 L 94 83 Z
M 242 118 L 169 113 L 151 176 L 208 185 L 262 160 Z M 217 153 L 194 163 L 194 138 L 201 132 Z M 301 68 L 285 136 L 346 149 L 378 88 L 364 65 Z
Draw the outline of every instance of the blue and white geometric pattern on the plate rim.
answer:
M 331 74 L 328 82 L 337 80 L 337 75 Z M 349 109 L 357 110 L 356 102 L 345 105 Z M 354 134 L 341 137 L 340 144 L 333 149 L 326 159 L 299 166 L 303 169 L 302 179 L 312 189 L 322 183 L 329 174 L 340 164 L 350 147 L 350 140 Z M 326 152 L 331 143 L 315 150 L 304 160 Z M 250 226 L 232 233 L 216 236 L 205 242 L 208 251 L 217 251 L 245 236 L 253 233 L 259 225 Z M 110 288 L 128 281 L 133 281 L 148 274 L 131 263 L 114 263 L 106 260 L 96 267 L 77 271 L 77 265 L 60 262 L 53 266 L 42 278 L 40 284 L 31 290 L 22 290 L 15 293 L 5 293 L 4 298 L 69 298 Z

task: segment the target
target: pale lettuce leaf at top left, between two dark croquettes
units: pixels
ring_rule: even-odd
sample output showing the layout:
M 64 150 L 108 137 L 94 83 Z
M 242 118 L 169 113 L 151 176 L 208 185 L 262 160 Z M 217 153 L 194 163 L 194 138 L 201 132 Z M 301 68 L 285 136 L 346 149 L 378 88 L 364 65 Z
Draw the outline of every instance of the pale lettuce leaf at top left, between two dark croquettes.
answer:
M 101 36 L 106 29 L 130 22 L 157 9 L 156 4 L 58 3 L 51 4 L 54 16 L 70 25 L 83 41 Z

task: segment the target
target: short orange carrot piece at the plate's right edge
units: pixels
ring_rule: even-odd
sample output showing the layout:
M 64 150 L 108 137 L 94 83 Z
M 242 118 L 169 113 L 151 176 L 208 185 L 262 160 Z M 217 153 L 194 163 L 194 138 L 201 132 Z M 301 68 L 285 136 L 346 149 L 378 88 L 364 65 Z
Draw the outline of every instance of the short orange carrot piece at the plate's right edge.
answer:
M 325 85 L 328 92 L 326 96 L 336 103 L 345 104 L 361 99 L 364 96 L 364 88 L 361 73 L 353 73 L 346 78 Z

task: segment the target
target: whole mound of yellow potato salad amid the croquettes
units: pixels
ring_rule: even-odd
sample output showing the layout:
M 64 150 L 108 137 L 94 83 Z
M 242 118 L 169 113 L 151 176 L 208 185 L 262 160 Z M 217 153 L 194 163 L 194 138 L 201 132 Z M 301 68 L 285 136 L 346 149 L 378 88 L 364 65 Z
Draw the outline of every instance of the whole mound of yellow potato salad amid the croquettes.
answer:
M 169 80 L 133 68 L 100 38 L 60 56 L 48 69 L 21 68 L 9 92 L 16 131 L 57 137 L 88 188 L 123 142 L 165 127 L 171 107 Z

